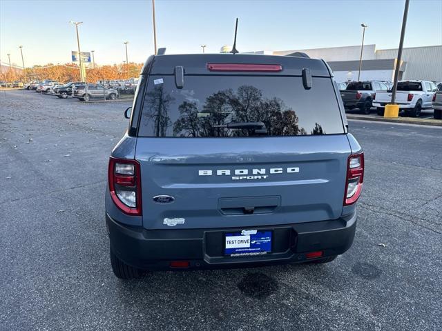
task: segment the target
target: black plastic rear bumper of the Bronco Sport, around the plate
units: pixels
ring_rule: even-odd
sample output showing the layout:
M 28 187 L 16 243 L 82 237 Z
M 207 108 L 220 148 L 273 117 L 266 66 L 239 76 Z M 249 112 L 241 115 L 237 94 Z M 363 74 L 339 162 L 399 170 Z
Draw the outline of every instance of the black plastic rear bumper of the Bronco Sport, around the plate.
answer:
M 170 270 L 171 261 L 189 261 L 191 269 L 215 269 L 300 263 L 307 261 L 305 253 L 318 250 L 323 257 L 343 254 L 353 243 L 356 212 L 331 221 L 257 227 L 273 232 L 273 248 L 256 257 L 224 256 L 224 233 L 244 228 L 146 230 L 122 225 L 108 214 L 106 224 L 111 249 L 135 268 Z

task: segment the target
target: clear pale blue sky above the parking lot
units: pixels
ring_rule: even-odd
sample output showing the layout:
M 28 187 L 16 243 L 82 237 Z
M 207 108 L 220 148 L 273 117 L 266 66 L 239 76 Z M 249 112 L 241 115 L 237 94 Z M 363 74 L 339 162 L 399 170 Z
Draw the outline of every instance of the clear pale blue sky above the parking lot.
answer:
M 157 45 L 167 54 L 237 49 L 300 50 L 361 44 L 397 48 L 405 0 L 156 0 Z M 0 0 L 0 60 L 26 67 L 70 62 L 77 50 L 95 50 L 99 65 L 126 59 L 144 62 L 153 54 L 151 0 Z M 411 0 L 404 47 L 442 44 L 442 0 Z

